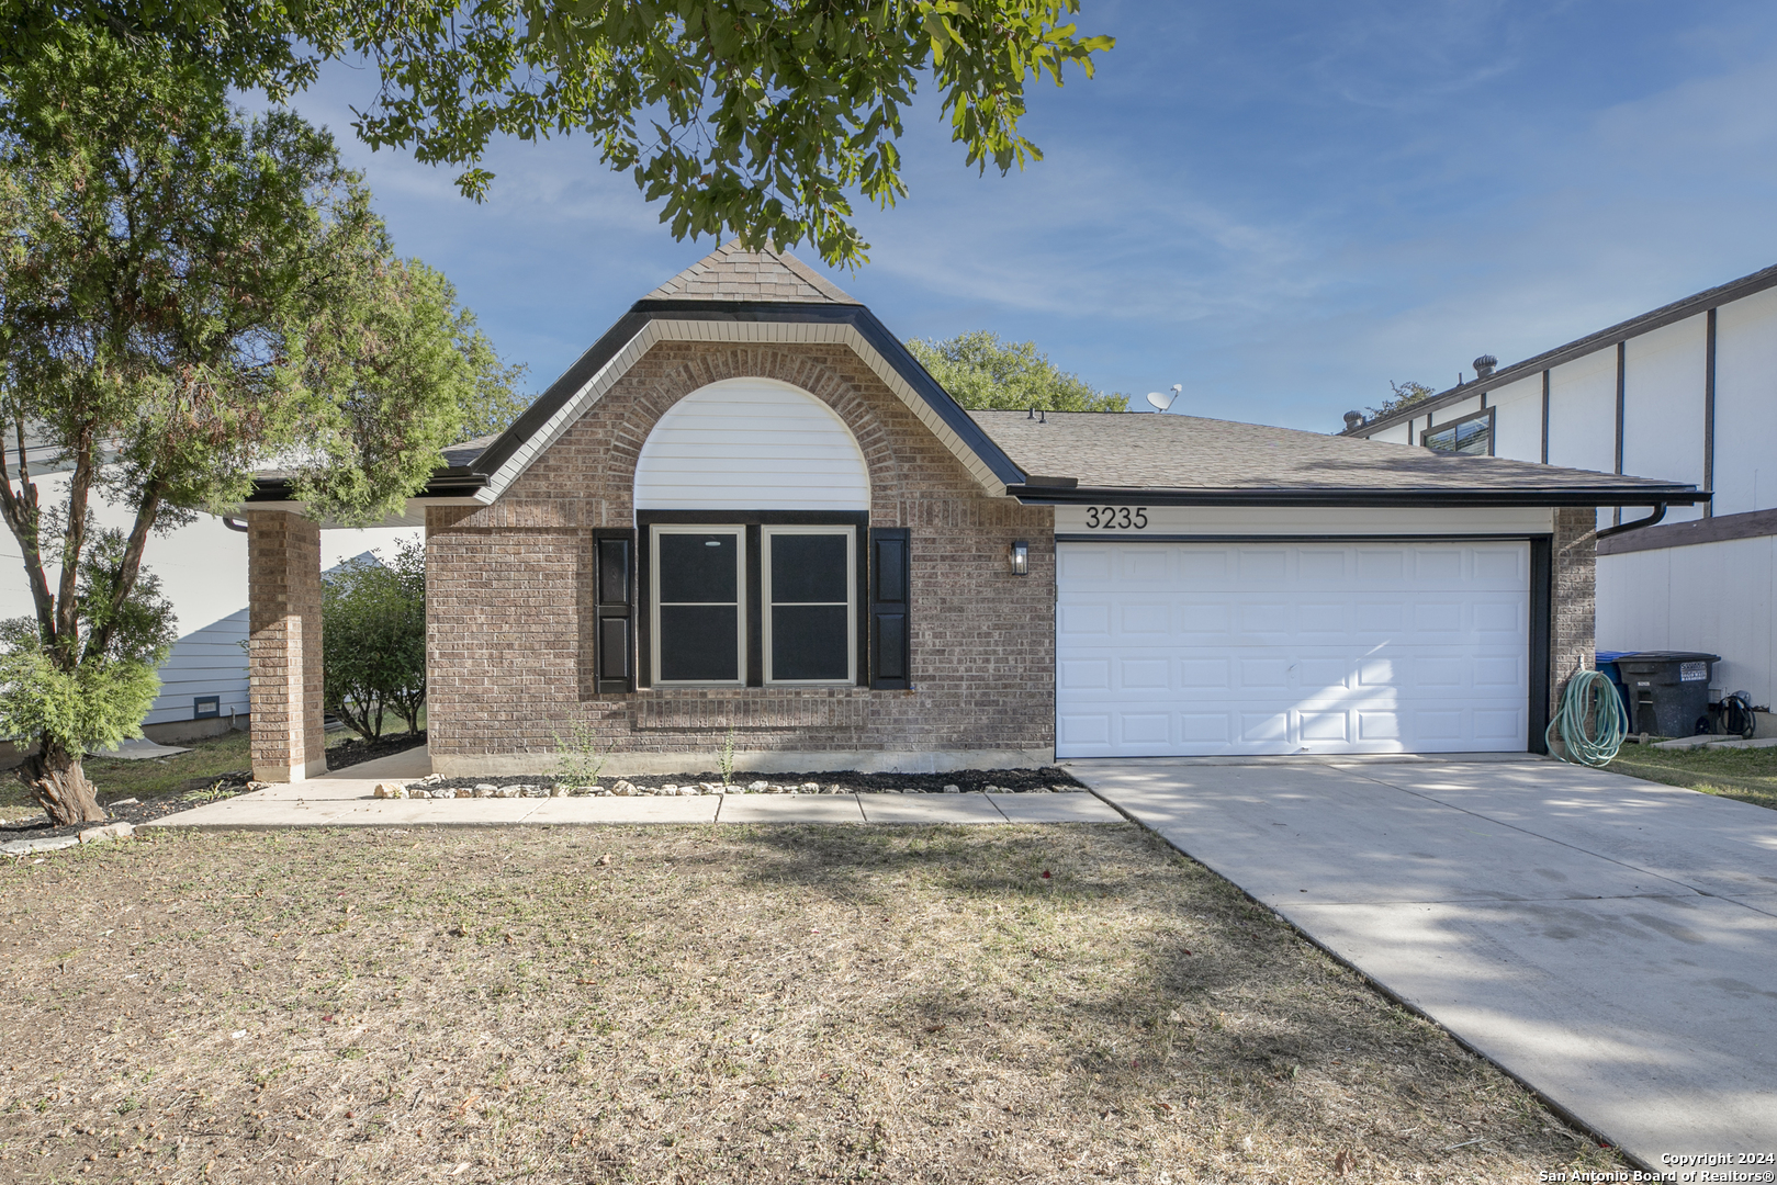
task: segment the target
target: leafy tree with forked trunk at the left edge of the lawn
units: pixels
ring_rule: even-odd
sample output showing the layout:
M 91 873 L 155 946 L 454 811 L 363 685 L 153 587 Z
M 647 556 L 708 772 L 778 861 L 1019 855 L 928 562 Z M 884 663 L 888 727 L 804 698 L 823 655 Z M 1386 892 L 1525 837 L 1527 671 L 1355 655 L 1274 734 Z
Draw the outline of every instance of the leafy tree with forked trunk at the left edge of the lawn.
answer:
M 149 537 L 238 506 L 272 460 L 316 515 L 398 508 L 490 380 L 464 325 L 444 277 L 393 256 L 370 194 L 293 114 L 247 119 L 204 64 L 103 30 L 11 66 L 0 517 L 36 631 L 5 636 L 0 727 L 39 741 L 25 776 L 55 823 L 103 819 L 80 755 L 140 736 L 153 698 L 171 615 L 142 574 Z M 59 503 L 43 460 L 68 471 Z M 94 497 L 130 529 L 94 533 Z

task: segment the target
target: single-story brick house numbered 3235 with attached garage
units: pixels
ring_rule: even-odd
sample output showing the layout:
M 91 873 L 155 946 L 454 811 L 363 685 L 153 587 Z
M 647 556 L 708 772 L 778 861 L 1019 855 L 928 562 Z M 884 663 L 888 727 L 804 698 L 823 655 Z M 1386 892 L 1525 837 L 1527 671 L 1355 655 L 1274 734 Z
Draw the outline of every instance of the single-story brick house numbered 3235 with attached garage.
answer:
M 1598 506 L 1693 485 L 1153 414 L 965 412 L 869 309 L 729 245 L 423 519 L 446 775 L 1535 750 Z M 254 769 L 322 767 L 320 526 L 245 506 Z

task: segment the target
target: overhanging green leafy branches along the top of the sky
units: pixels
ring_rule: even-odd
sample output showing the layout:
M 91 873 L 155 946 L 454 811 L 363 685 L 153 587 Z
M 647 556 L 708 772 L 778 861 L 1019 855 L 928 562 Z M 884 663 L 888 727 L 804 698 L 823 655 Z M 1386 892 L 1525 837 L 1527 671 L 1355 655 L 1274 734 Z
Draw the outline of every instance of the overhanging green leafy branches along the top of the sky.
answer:
M 727 231 L 750 249 L 812 242 L 833 265 L 867 256 L 848 194 L 906 194 L 903 110 L 942 92 L 967 163 L 1041 160 L 1018 131 L 1025 84 L 1093 75 L 1111 37 L 1079 36 L 1079 0 L 0 0 L 0 73 L 80 30 L 119 30 L 199 57 L 274 98 L 320 59 L 368 59 L 364 142 L 462 167 L 482 197 L 494 137 L 592 137 L 677 238 Z

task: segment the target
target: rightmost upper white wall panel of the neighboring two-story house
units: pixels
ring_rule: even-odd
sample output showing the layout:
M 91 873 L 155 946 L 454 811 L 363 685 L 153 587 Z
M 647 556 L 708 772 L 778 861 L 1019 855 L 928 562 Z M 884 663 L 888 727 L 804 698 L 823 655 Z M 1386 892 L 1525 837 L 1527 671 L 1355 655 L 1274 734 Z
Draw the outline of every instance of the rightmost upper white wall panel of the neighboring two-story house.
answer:
M 1777 506 L 1777 288 L 1715 323 L 1715 513 Z M 1770 602 L 1766 602 L 1770 604 Z

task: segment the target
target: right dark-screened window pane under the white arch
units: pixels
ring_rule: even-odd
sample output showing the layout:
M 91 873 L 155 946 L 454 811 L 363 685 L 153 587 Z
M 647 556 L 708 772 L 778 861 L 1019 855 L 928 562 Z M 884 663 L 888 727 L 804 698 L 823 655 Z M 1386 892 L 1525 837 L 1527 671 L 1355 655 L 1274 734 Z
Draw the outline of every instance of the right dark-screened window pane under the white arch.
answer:
M 851 677 L 848 537 L 771 535 L 771 679 Z

